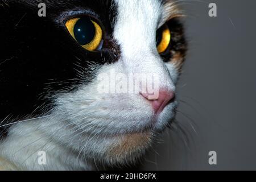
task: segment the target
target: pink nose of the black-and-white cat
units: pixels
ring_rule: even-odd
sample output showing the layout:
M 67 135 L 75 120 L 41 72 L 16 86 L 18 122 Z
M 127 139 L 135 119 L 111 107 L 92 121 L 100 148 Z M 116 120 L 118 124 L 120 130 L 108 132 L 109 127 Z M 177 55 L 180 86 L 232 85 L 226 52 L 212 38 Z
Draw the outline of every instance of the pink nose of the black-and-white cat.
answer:
M 168 91 L 168 90 L 159 90 L 158 97 L 155 97 L 155 98 L 149 97 L 147 93 L 146 94 L 141 93 L 141 95 L 150 102 L 156 114 L 160 114 L 163 111 L 164 107 L 166 107 L 167 104 L 171 100 L 173 100 L 175 96 L 173 91 Z

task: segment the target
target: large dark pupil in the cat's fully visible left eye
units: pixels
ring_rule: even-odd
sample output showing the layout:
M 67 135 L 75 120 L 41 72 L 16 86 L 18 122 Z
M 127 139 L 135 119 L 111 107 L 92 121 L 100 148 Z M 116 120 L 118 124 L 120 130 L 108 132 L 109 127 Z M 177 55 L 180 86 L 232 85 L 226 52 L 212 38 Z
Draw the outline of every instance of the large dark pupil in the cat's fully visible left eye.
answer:
M 74 35 L 82 46 L 92 42 L 95 36 L 95 27 L 90 18 L 80 18 L 74 26 Z

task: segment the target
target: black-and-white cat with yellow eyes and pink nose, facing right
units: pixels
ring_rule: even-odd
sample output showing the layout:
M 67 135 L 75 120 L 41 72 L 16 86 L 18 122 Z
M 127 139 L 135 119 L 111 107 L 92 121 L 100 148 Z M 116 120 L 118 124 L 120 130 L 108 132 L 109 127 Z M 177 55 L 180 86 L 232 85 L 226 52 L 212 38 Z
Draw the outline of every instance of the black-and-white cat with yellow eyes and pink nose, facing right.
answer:
M 0 1 L 0 169 L 138 164 L 175 117 L 182 11 L 174 0 L 45 0 L 39 16 L 39 3 Z M 156 73 L 158 97 L 143 85 L 99 92 L 110 71 Z

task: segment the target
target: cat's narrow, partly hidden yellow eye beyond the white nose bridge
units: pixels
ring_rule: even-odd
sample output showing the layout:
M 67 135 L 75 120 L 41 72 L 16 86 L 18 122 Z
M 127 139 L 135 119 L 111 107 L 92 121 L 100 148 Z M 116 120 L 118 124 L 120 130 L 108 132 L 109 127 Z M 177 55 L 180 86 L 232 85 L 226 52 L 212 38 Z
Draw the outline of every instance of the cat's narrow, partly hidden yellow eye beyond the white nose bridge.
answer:
M 171 31 L 167 25 L 164 25 L 156 32 L 156 46 L 158 53 L 163 53 L 171 44 Z

